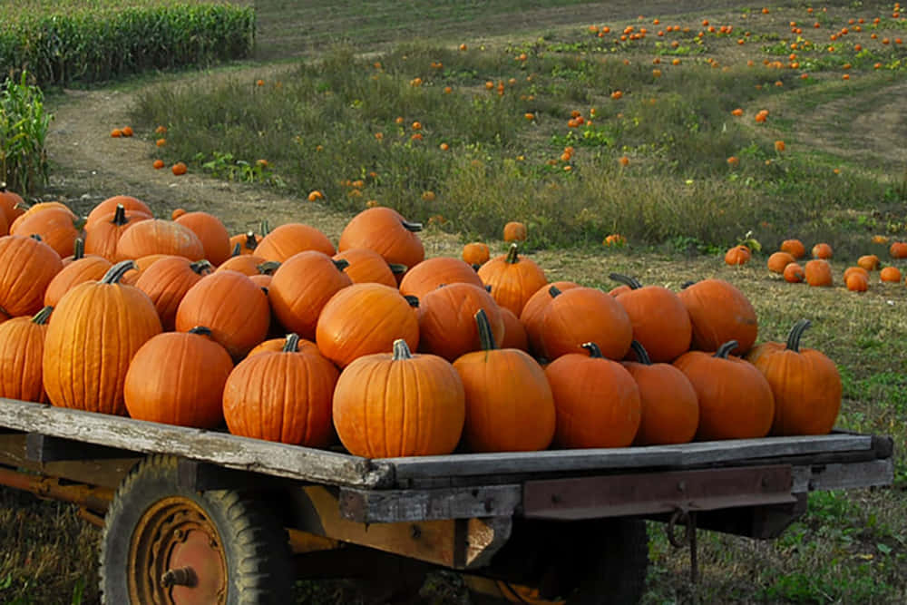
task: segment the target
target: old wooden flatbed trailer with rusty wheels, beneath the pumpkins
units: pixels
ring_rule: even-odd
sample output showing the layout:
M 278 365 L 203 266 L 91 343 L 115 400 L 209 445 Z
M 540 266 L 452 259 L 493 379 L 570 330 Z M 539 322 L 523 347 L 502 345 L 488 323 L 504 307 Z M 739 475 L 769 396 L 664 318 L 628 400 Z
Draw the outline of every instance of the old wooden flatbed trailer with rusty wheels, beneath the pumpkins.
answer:
M 836 431 L 366 459 L 0 398 L 0 484 L 102 527 L 106 603 L 288 602 L 298 577 L 432 568 L 492 601 L 635 602 L 644 520 L 771 539 L 814 490 L 890 485 L 892 440 Z

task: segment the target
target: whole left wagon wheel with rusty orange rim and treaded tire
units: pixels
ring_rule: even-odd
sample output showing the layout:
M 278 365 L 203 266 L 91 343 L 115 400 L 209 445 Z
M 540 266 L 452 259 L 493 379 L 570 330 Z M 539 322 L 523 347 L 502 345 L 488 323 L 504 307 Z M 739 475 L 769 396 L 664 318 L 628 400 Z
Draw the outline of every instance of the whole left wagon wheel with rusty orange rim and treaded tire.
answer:
M 283 605 L 292 584 L 286 532 L 255 501 L 180 487 L 166 456 L 120 484 L 102 533 L 102 602 Z

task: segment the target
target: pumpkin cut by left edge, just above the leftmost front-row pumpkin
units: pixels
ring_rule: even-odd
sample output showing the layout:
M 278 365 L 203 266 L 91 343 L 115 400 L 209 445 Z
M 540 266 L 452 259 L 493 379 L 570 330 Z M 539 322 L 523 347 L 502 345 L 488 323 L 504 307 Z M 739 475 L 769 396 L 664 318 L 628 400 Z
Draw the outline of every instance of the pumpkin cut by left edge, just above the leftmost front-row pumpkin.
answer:
M 63 269 L 60 256 L 40 239 L 5 235 L 0 259 L 0 312 L 17 317 L 40 311 L 44 291 Z

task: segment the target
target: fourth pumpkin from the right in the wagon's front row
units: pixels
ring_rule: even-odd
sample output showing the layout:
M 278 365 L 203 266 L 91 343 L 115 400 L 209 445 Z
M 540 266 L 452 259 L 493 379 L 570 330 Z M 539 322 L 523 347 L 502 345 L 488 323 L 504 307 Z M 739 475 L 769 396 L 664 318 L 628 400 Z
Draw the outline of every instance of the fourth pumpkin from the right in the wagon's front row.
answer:
M 607 296 L 607 295 L 606 295 Z M 601 355 L 595 343 L 560 356 L 545 368 L 554 395 L 560 447 L 627 447 L 641 418 L 639 386 L 624 366 Z

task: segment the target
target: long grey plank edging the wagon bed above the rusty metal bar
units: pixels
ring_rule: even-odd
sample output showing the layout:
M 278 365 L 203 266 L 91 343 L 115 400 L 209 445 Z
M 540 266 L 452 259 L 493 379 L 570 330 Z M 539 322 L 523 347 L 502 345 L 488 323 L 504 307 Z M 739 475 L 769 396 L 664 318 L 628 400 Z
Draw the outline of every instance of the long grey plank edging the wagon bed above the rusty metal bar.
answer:
M 377 462 L 391 464 L 395 469 L 395 478 L 399 482 L 439 476 L 555 473 L 646 467 L 679 469 L 753 460 L 767 462 L 781 456 L 853 451 L 871 453 L 872 450 L 871 435 L 826 434 L 612 449 L 384 458 Z

